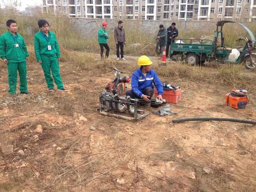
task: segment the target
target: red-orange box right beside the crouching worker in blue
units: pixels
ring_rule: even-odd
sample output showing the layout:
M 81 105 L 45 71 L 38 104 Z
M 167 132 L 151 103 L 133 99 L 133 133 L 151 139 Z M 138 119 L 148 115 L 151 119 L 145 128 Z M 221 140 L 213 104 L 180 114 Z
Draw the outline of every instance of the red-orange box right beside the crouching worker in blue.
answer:
M 154 96 L 158 96 L 157 89 L 154 89 Z M 181 89 L 163 90 L 163 99 L 166 99 L 167 103 L 179 102 L 181 100 Z

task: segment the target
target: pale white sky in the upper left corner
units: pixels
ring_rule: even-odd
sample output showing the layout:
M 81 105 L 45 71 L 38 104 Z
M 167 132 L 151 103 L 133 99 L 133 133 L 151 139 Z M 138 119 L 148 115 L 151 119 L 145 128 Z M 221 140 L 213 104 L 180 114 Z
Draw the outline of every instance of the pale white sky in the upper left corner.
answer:
M 4 5 L 11 5 L 11 3 L 21 3 L 21 6 L 17 7 L 20 11 L 24 11 L 25 7 L 28 6 L 41 6 L 43 4 L 42 0 L 0 0 L 1 7 L 4 7 Z

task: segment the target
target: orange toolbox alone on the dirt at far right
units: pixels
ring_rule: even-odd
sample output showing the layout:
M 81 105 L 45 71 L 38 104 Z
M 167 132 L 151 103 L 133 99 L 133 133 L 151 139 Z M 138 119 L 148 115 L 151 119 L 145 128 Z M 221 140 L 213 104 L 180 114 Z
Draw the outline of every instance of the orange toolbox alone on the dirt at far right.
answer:
M 228 106 L 231 106 L 233 108 L 236 109 L 242 109 L 245 108 L 248 102 L 248 97 L 244 96 L 244 97 L 236 97 L 236 96 L 232 96 L 230 95 L 230 93 L 226 94 L 226 102 L 225 104 Z

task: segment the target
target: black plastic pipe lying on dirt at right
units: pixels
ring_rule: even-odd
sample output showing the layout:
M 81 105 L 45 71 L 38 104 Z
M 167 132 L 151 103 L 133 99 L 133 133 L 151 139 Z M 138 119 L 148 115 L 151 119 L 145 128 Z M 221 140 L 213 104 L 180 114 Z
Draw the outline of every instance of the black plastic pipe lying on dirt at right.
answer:
M 185 122 L 185 121 L 231 121 L 231 122 L 241 122 L 256 125 L 256 121 L 241 120 L 241 119 L 229 119 L 229 118 L 218 118 L 218 117 L 198 117 L 198 118 L 188 118 L 188 119 L 174 119 L 172 122 Z

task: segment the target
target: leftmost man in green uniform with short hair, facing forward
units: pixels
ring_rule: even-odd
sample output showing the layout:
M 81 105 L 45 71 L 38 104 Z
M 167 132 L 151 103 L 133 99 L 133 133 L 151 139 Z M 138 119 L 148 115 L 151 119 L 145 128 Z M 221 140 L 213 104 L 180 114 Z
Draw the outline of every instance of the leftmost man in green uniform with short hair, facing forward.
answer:
M 29 53 L 23 37 L 17 33 L 15 20 L 6 21 L 8 31 L 0 37 L 0 57 L 7 64 L 9 93 L 16 94 L 17 71 L 20 76 L 20 94 L 29 94 L 26 81 L 26 61 Z

